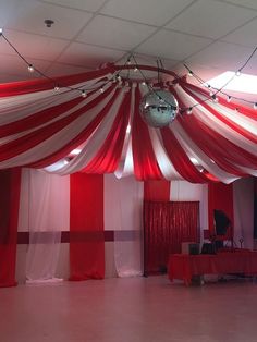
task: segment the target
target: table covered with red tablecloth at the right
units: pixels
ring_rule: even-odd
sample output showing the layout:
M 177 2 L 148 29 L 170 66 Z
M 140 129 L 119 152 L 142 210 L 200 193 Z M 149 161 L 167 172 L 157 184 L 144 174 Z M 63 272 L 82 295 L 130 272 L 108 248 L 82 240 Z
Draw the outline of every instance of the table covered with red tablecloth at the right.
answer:
M 218 254 L 173 254 L 168 262 L 168 276 L 191 284 L 194 276 L 243 273 L 257 274 L 257 252 L 221 252 Z

